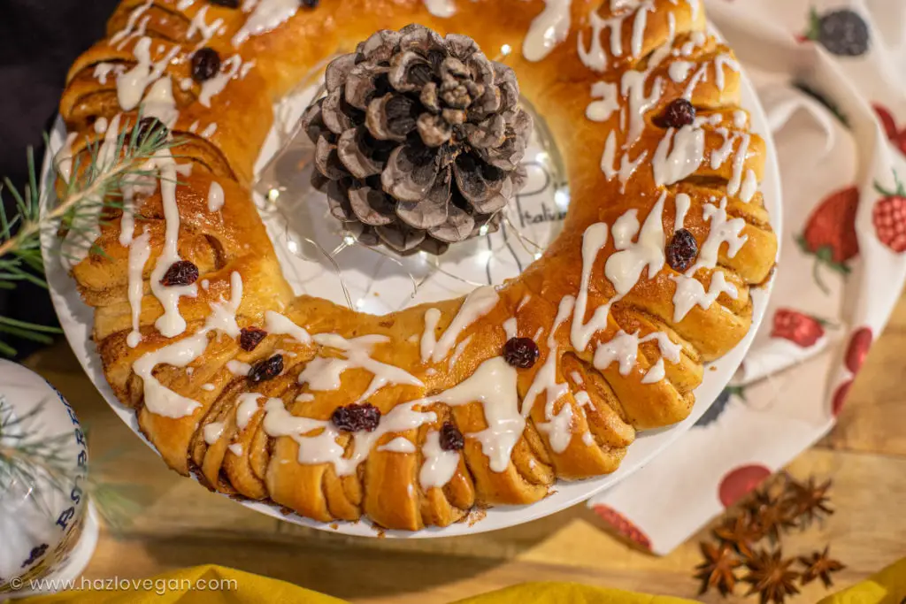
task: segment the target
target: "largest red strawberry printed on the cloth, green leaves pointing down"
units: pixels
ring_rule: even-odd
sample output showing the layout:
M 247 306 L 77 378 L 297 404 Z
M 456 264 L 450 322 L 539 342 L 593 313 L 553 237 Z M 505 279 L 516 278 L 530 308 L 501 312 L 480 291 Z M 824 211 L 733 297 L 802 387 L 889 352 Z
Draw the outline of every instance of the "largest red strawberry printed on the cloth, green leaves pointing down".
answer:
M 805 223 L 796 242 L 805 254 L 814 254 L 814 281 L 827 292 L 818 275 L 822 264 L 837 273 L 849 274 L 846 264 L 859 254 L 855 234 L 855 212 L 859 207 L 859 189 L 847 187 L 824 197 Z

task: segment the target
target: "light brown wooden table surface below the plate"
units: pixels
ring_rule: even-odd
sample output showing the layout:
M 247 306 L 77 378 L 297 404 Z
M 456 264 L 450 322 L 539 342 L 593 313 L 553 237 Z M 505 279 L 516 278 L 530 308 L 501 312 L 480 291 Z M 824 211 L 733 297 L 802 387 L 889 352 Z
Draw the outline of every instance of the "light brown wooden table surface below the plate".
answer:
M 92 470 L 139 504 L 103 529 L 86 576 L 143 578 L 216 563 L 355 602 L 449 602 L 523 581 L 564 580 L 697 599 L 692 568 L 707 529 L 670 556 L 635 551 L 583 505 L 503 531 L 442 540 L 352 538 L 281 523 L 170 472 L 92 387 L 65 343 L 27 363 L 72 402 L 89 429 Z M 839 425 L 789 466 L 834 479 L 836 513 L 786 537 L 784 553 L 830 542 L 845 587 L 906 556 L 906 297 L 856 380 Z M 737 589 L 737 592 L 744 590 Z M 826 592 L 814 581 L 792 602 Z M 706 602 L 757 601 L 720 599 Z

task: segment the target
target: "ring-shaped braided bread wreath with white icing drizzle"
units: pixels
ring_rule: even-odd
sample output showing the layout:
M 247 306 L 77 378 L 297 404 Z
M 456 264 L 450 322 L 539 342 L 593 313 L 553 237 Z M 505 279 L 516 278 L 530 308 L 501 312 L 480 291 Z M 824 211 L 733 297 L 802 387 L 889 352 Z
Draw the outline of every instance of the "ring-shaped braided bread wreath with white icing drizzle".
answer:
M 63 180 L 90 143 L 111 153 L 140 103 L 186 141 L 154 159 L 159 178 L 124 187 L 132 212 L 98 222 L 103 254 L 69 267 L 112 391 L 171 468 L 320 523 L 417 531 L 612 473 L 637 431 L 689 415 L 703 363 L 747 335 L 777 250 L 766 144 L 699 0 L 238 4 L 124 0 L 60 105 Z M 465 300 L 372 316 L 296 296 L 250 196 L 272 103 L 335 49 L 411 23 L 516 49 L 506 64 L 564 151 L 564 231 Z M 199 82 L 205 46 L 222 65 Z M 698 118 L 666 128 L 680 97 Z M 681 228 L 699 248 L 683 273 L 665 263 Z M 184 261 L 198 282 L 161 283 Z M 503 355 L 514 330 L 544 334 L 529 368 Z M 353 408 L 341 429 L 334 411 L 366 400 L 380 421 Z

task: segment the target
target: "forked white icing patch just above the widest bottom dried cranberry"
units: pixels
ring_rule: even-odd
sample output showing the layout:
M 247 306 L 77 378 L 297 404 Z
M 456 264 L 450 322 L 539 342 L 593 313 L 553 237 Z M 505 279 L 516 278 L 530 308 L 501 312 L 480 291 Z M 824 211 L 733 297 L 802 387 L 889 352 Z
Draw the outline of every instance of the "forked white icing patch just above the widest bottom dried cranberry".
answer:
M 341 387 L 340 376 L 346 369 L 359 368 L 371 372 L 373 378 L 359 400 L 367 400 L 375 392 L 391 384 L 424 386 L 421 380 L 405 369 L 382 363 L 371 358 L 371 350 L 378 344 L 390 341 L 380 335 L 361 336 L 346 340 L 335 333 L 319 333 L 313 340 L 328 348 L 342 350 L 345 359 L 317 357 L 299 374 L 299 383 L 308 384 L 311 390 L 336 390 Z

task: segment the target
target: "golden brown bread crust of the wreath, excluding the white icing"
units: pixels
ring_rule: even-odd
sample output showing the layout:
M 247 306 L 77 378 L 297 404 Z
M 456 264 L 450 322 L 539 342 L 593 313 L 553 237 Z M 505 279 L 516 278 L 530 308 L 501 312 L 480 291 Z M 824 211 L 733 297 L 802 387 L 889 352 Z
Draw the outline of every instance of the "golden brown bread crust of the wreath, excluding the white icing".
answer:
M 92 46 L 73 64 L 61 100 L 61 115 L 71 131 L 79 132 L 72 143 L 73 151 L 78 154 L 100 138 L 92 128 L 97 120 L 111 120 L 121 112 L 116 70 L 129 70 L 135 65 L 134 50 L 140 35 L 120 33 L 134 31 L 136 24 L 144 23 L 144 35 L 151 38 L 153 46 L 159 47 L 155 56 L 178 47 L 164 75 L 173 82 L 179 110 L 172 131 L 188 139 L 188 144 L 180 147 L 178 154 L 183 158 L 179 162 L 193 166 L 188 177 L 180 178 L 176 191 L 180 219 L 178 254 L 196 264 L 207 283 L 196 297 L 183 297 L 179 302 L 179 313 L 188 322 L 187 331 L 167 339 L 154 327 L 163 312 L 149 288 L 149 275 L 161 254 L 166 228 L 160 191 L 140 200 L 135 220 L 135 233 L 147 228 L 150 237 L 150 256 L 142 272 L 144 295 L 139 318 L 142 340 L 138 346 L 131 348 L 126 341 L 131 329 L 127 298 L 129 249 L 119 243 L 120 216 L 111 216 L 109 224 L 101 228 L 97 245 L 105 254 L 92 255 L 73 270 L 85 301 L 96 308 L 94 338 L 113 391 L 124 404 L 136 408 L 141 431 L 178 472 L 194 473 L 213 490 L 276 503 L 323 523 L 355 521 L 367 516 L 374 523 L 395 529 L 445 526 L 463 520 L 477 503 L 533 503 L 548 494 L 558 477 L 581 479 L 614 471 L 636 430 L 669 426 L 688 416 L 694 402 L 692 390 L 702 379 L 702 363 L 725 354 L 749 330 L 752 320 L 749 287 L 765 281 L 776 256 L 776 236 L 768 224 L 760 193 L 748 202 L 736 195 L 728 196 L 726 211 L 729 217 L 742 219 L 741 235 L 747 237 L 747 244 L 732 256 L 728 254 L 728 245 L 723 244 L 718 267 L 699 270 L 695 275 L 707 289 L 713 275 L 722 274 L 736 287 L 735 298 L 721 293 L 708 308 L 695 306 L 680 321 L 675 321 L 672 298 L 679 273 L 665 265 L 653 277 L 649 274 L 649 278 L 641 279 L 621 301 L 613 304 L 606 327 L 593 334 L 591 346 L 585 350 L 573 347 L 572 316 L 551 336 L 556 349 L 555 381 L 566 385 L 564 396 L 554 402 L 553 412 L 560 414 L 564 407 L 571 407 L 573 435 L 564 448 L 554 450 L 549 433 L 539 428 L 550 421 L 545 414 L 545 394 L 535 401 L 526 398 L 552 353 L 547 339 L 558 307 L 564 296 L 575 296 L 580 290 L 585 230 L 599 222 L 613 225 L 631 208 L 638 211 L 640 223 L 644 222 L 662 194 L 661 223 L 669 238 L 674 231 L 677 197 L 683 195 L 689 198 L 684 227 L 700 245 L 711 230 L 704 217 L 705 206 L 727 195 L 727 183 L 734 170 L 751 170 L 760 181 L 765 170 L 766 147 L 762 139 L 751 134 L 745 138 L 745 154 L 738 154 L 739 166 L 734 167 L 729 161 L 712 166 L 709 161 L 718 149 L 735 157 L 743 144 L 743 135 L 747 135 L 747 125 L 739 123 L 737 114 L 739 73 L 716 61 L 718 55 L 732 57 L 732 54 L 713 38 L 698 39 L 699 34 L 695 34 L 705 27 L 704 10 L 698 0 L 644 3 L 646 10 L 651 9 L 644 35 L 637 40 L 633 34 L 636 19 L 631 15 L 623 19 L 619 38 L 622 52 L 614 56 L 609 52 L 611 44 L 603 43 L 608 52 L 602 72 L 594 72 L 581 61 L 579 36 L 583 36 L 583 46 L 587 46 L 593 32 L 592 13 L 596 12 L 599 20 L 613 16 L 609 1 L 573 0 L 572 27 L 567 39 L 541 62 L 527 62 L 517 49 L 522 47 L 532 21 L 544 9 L 542 0 L 477 0 L 456 4 L 457 14 L 450 19 L 439 19 L 429 14 L 420 0 L 322 3 L 314 10 L 300 9 L 274 31 L 251 36 L 236 51 L 230 39 L 245 23 L 246 14 L 241 11 L 201 0 L 182 11 L 176 0 L 125 0 L 108 24 L 111 37 Z M 193 32 L 192 23 L 198 19 L 199 11 L 205 9 L 206 23 L 222 20 L 222 27 L 207 45 L 215 48 L 221 57 L 237 54 L 244 63 L 254 62 L 254 68 L 229 81 L 225 90 L 211 99 L 210 107 L 199 102 L 200 87 L 191 81 L 189 72 L 192 49 L 203 43 L 198 28 Z M 633 10 L 641 9 L 634 6 Z M 564 151 L 573 200 L 564 234 L 540 261 L 516 280 L 498 288 L 499 301 L 495 308 L 459 334 L 458 342 L 469 337 L 471 340 L 456 363 L 448 359 L 439 363 L 421 360 L 418 340 L 426 329 L 425 313 L 429 306 L 374 317 L 348 311 L 332 302 L 294 297 L 280 273 L 248 188 L 258 149 L 273 121 L 271 102 L 293 88 L 306 73 L 323 66 L 333 53 L 351 52 L 356 43 L 376 29 L 400 29 L 412 22 L 441 33 L 460 31 L 471 35 L 492 59 L 496 58 L 495 49 L 504 44 L 516 49 L 504 60 L 516 70 L 525 97 L 545 116 L 554 139 Z M 609 32 L 601 35 L 610 41 Z M 633 56 L 636 43 L 641 46 Z M 664 44 L 671 44 L 676 52 L 652 67 L 651 53 Z M 688 53 L 679 52 L 684 47 L 689 49 Z M 708 117 L 701 126 L 705 161 L 678 183 L 656 187 L 651 158 L 664 139 L 664 129 L 655 123 L 655 118 L 688 85 L 670 77 L 670 65 L 677 61 L 690 62 L 694 70 L 702 71 L 699 85 L 689 91 L 689 99 L 699 115 Z M 115 68 L 108 72 L 106 83 L 95 75 L 101 63 Z M 588 153 L 587 149 L 602 149 L 602 142 L 610 135 L 616 137 L 621 147 L 632 142 L 621 125 L 620 120 L 625 118 L 621 117 L 621 111 L 616 111 L 608 120 L 596 122 L 586 120 L 585 111 L 594 82 L 619 86 L 628 70 L 645 69 L 651 71 L 651 81 L 661 82 L 662 93 L 644 112 L 641 135 L 631 148 L 633 156 L 645 152 L 649 160 L 641 162 L 634 177 L 623 185 L 618 178 L 606 177 L 599 168 L 597 151 Z M 625 99 L 621 104 L 625 106 Z M 134 112 L 125 113 L 121 125 L 128 126 L 135 117 Z M 212 134 L 200 134 L 214 121 L 217 129 Z M 207 208 L 212 182 L 224 189 L 225 204 L 216 212 Z M 616 294 L 604 274 L 605 260 L 616 251 L 611 238 L 594 259 L 587 290 L 589 309 L 612 300 Z M 153 371 L 161 384 L 195 400 L 198 408 L 187 417 L 152 413 L 145 405 L 143 380 L 134 373 L 133 364 L 145 354 L 198 333 L 211 304 L 229 298 L 231 275 L 235 272 L 241 275 L 244 290 L 236 310 L 239 327 L 261 327 L 265 324 L 265 312 L 277 311 L 312 334 L 335 333 L 346 339 L 386 336 L 385 342 L 373 347 L 371 358 L 405 369 L 422 386 L 392 385 L 378 390 L 369 402 L 384 415 L 400 403 L 463 383 L 485 361 L 497 357 L 507 337 L 504 321 L 515 318 L 519 335 L 524 337 L 533 337 L 541 330 L 544 336 L 537 342 L 540 360 L 533 368 L 518 371 L 518 398 L 523 407 L 530 406 L 525 407 L 530 411 L 525 431 L 513 447 L 506 467 L 503 471 L 492 469 L 482 444 L 468 436 L 488 427 L 485 407 L 479 401 L 455 407 L 426 403 L 422 410 L 434 412 L 435 421 L 381 436 L 368 458 L 352 474 L 338 475 L 337 468 L 330 463 L 300 464 L 300 445 L 294 437 L 272 437 L 265 431 L 266 401 L 279 399 L 295 416 L 327 420 L 334 409 L 357 400 L 373 376 L 365 369 L 352 367 L 342 372 L 341 388 L 313 392 L 307 385 L 299 384 L 299 374 L 315 357 L 335 358 L 339 356 L 338 351 L 321 344 L 300 342 L 288 335 L 270 334 L 255 350 L 246 351 L 239 347 L 236 338 L 219 331 L 208 332 L 207 348 L 186 368 L 161 363 Z M 439 311 L 436 337 L 447 329 L 462 303 L 453 300 L 430 305 Z M 588 321 L 591 314 L 588 312 L 583 321 Z M 642 340 L 651 334 L 664 334 L 679 346 L 679 360 L 663 363 L 664 379 L 644 383 L 648 372 L 663 360 L 662 350 L 655 341 L 643 341 L 638 360 L 628 371 L 621 371 L 617 363 L 596 369 L 594 350 L 620 332 L 638 333 Z M 284 371 L 279 378 L 262 384 L 252 384 L 227 368 L 227 361 L 254 364 L 274 354 L 283 356 Z M 237 401 L 250 392 L 260 395 L 255 399 L 258 407 L 244 417 L 245 423 L 240 427 Z M 422 446 L 429 433 L 439 430 L 446 422 L 454 423 L 467 435 L 465 447 L 458 454 L 452 479 L 442 488 L 425 489 L 419 482 L 419 471 L 425 462 Z M 210 427 L 212 434 L 218 432 L 219 437 L 208 442 L 206 427 Z M 415 444 L 415 452 L 379 450 L 397 437 L 409 439 Z M 352 436 L 342 433 L 338 442 L 345 447 L 345 456 L 350 457 Z

